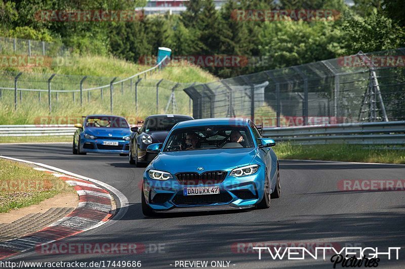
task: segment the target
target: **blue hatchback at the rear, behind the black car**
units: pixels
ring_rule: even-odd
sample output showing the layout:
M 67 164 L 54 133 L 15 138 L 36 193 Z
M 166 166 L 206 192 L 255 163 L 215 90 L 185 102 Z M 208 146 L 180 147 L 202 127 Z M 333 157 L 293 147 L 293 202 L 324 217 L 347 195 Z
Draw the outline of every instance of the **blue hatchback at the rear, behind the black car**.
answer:
M 74 125 L 73 154 L 119 153 L 127 156 L 130 149 L 131 130 L 123 117 L 89 115 L 83 125 Z

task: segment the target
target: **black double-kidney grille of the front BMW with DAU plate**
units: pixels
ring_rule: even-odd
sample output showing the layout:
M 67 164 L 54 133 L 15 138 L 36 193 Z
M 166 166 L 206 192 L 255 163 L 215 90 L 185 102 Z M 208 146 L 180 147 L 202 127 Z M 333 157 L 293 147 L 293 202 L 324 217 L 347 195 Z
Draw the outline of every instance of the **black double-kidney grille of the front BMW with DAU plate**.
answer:
M 176 174 L 177 181 L 179 181 L 181 185 L 218 184 L 224 181 L 225 177 L 225 171 L 208 171 L 204 172 L 203 174 L 192 172 Z

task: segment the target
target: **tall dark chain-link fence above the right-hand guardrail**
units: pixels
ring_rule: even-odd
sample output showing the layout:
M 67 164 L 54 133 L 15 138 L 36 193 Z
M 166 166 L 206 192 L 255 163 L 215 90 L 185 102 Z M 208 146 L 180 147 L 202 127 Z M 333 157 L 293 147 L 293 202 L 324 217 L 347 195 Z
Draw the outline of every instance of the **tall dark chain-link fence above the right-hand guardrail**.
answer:
M 193 117 L 265 126 L 405 120 L 405 49 L 341 57 L 193 85 Z

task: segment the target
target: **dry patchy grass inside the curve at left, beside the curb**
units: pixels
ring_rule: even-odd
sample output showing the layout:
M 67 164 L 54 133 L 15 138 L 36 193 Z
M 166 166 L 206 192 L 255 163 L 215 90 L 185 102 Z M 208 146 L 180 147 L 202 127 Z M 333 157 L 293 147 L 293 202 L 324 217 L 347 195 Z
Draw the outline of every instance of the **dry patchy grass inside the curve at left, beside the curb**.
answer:
M 0 158 L 0 213 L 73 191 L 73 188 L 51 174 Z

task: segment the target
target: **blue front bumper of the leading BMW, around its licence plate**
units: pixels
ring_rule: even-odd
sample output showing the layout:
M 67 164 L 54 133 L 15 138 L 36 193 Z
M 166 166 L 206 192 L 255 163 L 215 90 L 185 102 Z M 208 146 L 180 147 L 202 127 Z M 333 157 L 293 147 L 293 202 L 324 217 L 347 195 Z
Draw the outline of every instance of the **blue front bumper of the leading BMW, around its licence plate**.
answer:
M 227 176 L 218 184 L 182 185 L 176 179 L 166 181 L 151 179 L 145 171 L 143 195 L 155 211 L 195 211 L 250 208 L 259 203 L 264 191 L 264 169 L 250 176 Z M 219 186 L 220 194 L 185 196 L 185 187 Z

